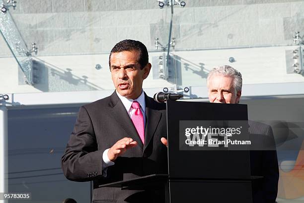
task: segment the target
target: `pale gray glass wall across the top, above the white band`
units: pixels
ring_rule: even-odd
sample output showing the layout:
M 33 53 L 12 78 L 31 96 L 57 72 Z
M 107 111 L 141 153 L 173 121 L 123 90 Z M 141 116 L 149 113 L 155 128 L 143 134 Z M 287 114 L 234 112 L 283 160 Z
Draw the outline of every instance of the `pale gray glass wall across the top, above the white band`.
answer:
M 302 0 L 184 1 L 173 6 L 176 50 L 293 45 L 304 33 Z M 155 38 L 167 45 L 171 22 L 171 6 L 156 0 L 19 0 L 9 12 L 37 56 L 109 53 L 127 38 L 155 51 Z

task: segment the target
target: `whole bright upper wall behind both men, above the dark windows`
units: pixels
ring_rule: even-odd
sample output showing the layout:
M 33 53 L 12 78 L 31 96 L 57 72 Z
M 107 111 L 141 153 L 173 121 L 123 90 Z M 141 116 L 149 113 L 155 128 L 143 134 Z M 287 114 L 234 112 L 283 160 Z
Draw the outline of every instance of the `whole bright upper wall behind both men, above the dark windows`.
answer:
M 114 44 L 126 38 L 142 41 L 150 52 L 152 72 L 145 88 L 176 91 L 205 86 L 209 70 L 223 64 L 244 72 L 245 84 L 304 82 L 304 71 L 297 72 L 304 67 L 301 56 L 293 54 L 296 49 L 300 53 L 301 47 L 291 46 L 295 32 L 300 31 L 296 45 L 304 33 L 303 1 L 185 0 L 184 7 L 173 6 L 171 29 L 171 6 L 161 9 L 156 0 L 39 2 L 20 0 L 15 10 L 9 10 L 25 44 L 38 46 L 33 86 L 26 85 L 24 75 L 13 71 L 14 64 L 0 54 L 5 64 L 2 70 L 11 79 L 0 92 L 114 89 L 108 55 Z M 169 39 L 174 50 L 171 46 L 170 60 L 166 60 Z M 172 61 L 173 68 L 162 66 L 167 61 Z M 24 63 L 31 66 L 30 61 Z M 6 78 L 0 75 L 0 80 Z

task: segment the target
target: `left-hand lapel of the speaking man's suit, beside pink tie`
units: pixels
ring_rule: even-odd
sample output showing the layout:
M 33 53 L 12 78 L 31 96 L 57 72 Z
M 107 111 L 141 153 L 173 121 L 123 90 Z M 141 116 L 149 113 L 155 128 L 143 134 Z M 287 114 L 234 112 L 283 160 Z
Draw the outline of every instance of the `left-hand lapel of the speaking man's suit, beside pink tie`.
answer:
M 127 132 L 127 137 L 131 137 L 133 140 L 137 141 L 138 146 L 143 149 L 143 142 L 141 141 L 129 114 L 126 111 L 124 104 L 115 92 L 111 95 L 110 106 L 112 107 L 111 114 L 116 119 L 117 123 Z

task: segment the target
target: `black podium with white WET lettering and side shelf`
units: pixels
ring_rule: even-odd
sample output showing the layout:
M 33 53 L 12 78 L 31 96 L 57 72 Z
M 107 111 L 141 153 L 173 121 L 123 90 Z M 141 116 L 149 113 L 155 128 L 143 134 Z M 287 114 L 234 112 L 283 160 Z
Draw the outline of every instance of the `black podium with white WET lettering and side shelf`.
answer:
M 251 182 L 261 177 L 250 176 L 249 148 L 223 144 L 232 138 L 248 140 L 247 120 L 245 104 L 168 101 L 168 174 L 100 187 L 163 189 L 166 203 L 252 203 Z M 217 129 L 221 136 L 212 138 L 208 132 Z

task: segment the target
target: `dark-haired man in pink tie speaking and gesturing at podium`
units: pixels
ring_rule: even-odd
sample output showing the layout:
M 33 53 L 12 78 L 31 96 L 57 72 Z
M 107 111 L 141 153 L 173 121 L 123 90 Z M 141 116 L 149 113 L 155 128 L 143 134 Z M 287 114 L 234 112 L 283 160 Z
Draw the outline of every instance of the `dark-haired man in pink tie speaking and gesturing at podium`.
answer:
M 151 64 L 146 46 L 123 40 L 111 50 L 109 66 L 116 91 L 83 105 L 62 168 L 72 181 L 93 181 L 93 203 L 162 202 L 160 191 L 128 191 L 99 185 L 150 174 L 167 174 L 165 105 L 148 97 L 143 81 Z

